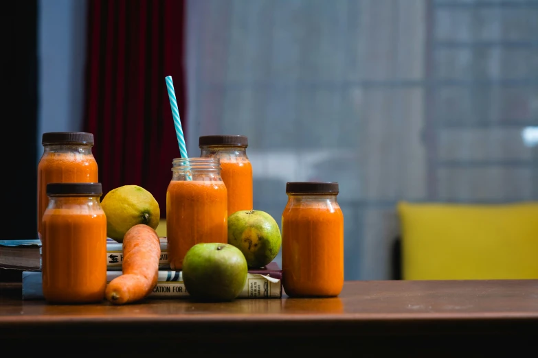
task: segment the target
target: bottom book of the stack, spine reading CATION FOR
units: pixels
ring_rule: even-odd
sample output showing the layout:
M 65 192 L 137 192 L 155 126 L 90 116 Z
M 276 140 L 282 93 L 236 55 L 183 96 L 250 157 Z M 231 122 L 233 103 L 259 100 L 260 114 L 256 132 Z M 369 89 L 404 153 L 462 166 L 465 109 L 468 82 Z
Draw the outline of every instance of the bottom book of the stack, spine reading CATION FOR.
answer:
M 107 272 L 107 281 L 120 276 L 120 271 Z M 43 300 L 41 272 L 23 272 L 23 300 Z M 188 298 L 189 294 L 179 271 L 159 271 L 157 285 L 148 298 Z M 282 273 L 247 274 L 247 282 L 238 298 L 281 298 Z

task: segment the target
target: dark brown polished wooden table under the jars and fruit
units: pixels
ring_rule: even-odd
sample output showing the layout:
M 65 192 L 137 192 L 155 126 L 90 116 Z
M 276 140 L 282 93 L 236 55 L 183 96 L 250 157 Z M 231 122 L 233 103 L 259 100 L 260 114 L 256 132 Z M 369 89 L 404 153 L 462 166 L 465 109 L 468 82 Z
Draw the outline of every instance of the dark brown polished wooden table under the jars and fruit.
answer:
M 126 306 L 22 301 L 20 287 L 3 285 L 0 352 L 9 347 L 62 356 L 96 351 L 101 357 L 514 357 L 527 348 L 530 356 L 537 354 L 535 280 L 350 281 L 338 298 L 225 303 L 151 298 Z

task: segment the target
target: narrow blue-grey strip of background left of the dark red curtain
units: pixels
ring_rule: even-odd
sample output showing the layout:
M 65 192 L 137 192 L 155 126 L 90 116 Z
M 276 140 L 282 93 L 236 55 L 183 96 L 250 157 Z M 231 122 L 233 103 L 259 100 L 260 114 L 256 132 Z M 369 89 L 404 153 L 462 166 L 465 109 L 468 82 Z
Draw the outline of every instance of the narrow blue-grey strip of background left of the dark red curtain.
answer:
M 38 0 L 38 143 L 44 132 L 83 128 L 86 0 Z

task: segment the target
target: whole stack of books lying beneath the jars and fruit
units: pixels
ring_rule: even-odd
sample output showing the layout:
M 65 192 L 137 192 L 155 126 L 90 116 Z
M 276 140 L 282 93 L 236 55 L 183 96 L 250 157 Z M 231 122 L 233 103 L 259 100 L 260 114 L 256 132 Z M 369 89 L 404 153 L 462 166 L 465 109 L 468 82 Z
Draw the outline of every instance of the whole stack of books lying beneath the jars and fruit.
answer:
M 181 271 L 170 270 L 166 237 L 161 237 L 161 261 L 157 286 L 149 298 L 188 298 Z M 122 274 L 122 243 L 107 239 L 107 281 Z M 42 300 L 41 241 L 0 240 L 0 268 L 21 270 L 23 300 Z M 282 298 L 282 270 L 271 262 L 251 269 L 238 298 Z

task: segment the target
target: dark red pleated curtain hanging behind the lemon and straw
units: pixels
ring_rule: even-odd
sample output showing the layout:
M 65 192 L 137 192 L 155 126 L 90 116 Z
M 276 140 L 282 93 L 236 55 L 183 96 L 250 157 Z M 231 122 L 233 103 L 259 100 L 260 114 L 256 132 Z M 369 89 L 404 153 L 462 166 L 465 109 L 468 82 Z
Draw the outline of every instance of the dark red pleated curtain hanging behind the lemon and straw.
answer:
M 103 196 L 126 184 L 153 194 L 166 217 L 172 159 L 179 158 L 164 78 L 172 76 L 183 125 L 185 4 L 90 0 L 85 131 L 95 138 Z

